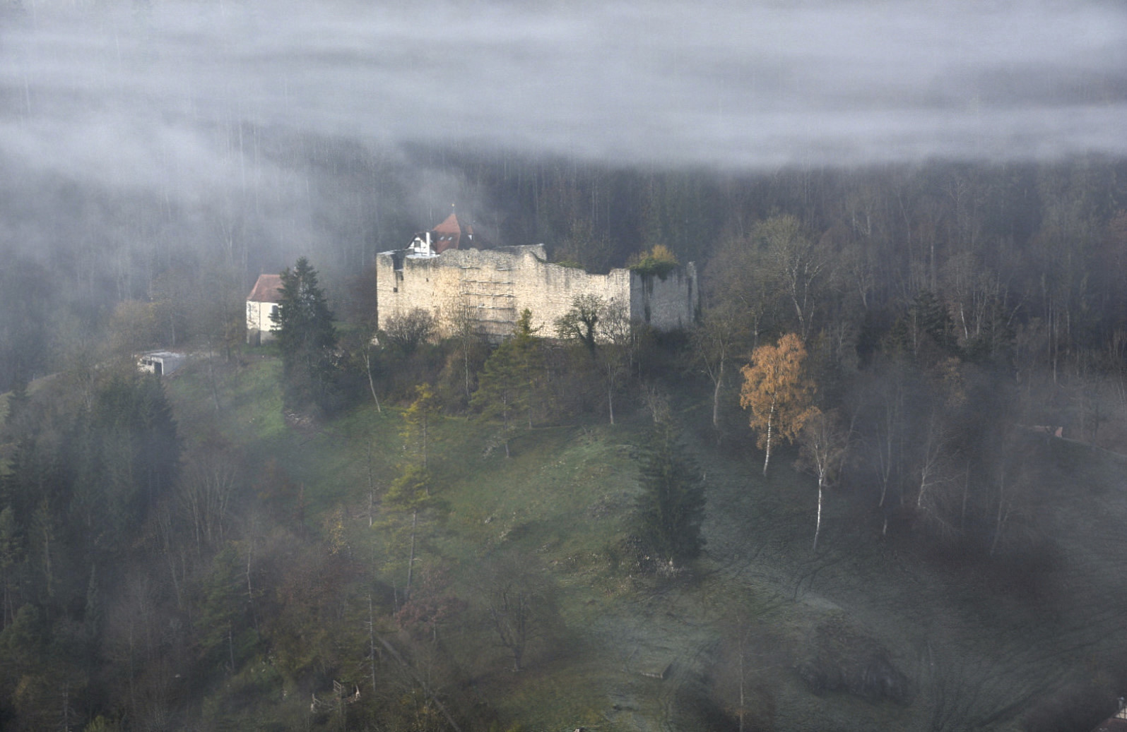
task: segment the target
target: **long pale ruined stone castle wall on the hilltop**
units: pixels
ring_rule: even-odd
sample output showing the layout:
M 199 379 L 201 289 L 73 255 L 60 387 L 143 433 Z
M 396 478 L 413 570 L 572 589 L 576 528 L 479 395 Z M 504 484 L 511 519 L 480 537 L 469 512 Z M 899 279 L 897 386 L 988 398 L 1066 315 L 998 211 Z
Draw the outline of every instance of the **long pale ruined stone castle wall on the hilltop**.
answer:
M 628 269 L 592 275 L 549 264 L 543 244 L 450 249 L 431 257 L 399 250 L 376 257 L 380 328 L 389 318 L 420 307 L 435 315 L 442 334 L 462 313 L 479 332 L 500 338 L 527 307 L 533 327 L 553 334 L 556 320 L 579 295 L 628 309 L 632 319 L 662 330 L 686 328 L 696 315 L 696 269 L 689 264 L 664 280 Z

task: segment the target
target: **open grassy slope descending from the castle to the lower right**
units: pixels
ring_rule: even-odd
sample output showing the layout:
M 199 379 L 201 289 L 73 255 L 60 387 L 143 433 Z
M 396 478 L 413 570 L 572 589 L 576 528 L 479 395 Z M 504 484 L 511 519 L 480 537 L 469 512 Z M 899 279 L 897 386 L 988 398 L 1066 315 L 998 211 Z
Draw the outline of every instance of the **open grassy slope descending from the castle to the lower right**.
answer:
M 387 485 L 399 457 L 396 412 L 363 405 L 321 429 L 295 429 L 279 413 L 276 361 L 225 380 L 220 412 L 194 372 L 169 380 L 189 438 L 218 431 L 258 461 L 277 461 L 305 486 L 310 525 L 343 505 L 366 527 L 369 466 Z M 698 412 L 684 420 L 694 423 Z M 1004 568 L 957 571 L 898 553 L 857 501 L 835 494 L 815 556 L 808 479 L 780 459 L 764 480 L 753 450 L 694 443 L 707 470 L 708 554 L 694 578 L 658 581 L 612 571 L 607 552 L 624 536 L 644 428 L 533 430 L 514 441 L 511 459 L 483 456 L 479 431 L 463 420 L 440 430 L 436 470 L 451 506 L 442 553 L 471 568 L 514 544 L 560 587 L 566 637 L 533 650 L 525 672 L 508 672 L 487 634 L 461 643 L 482 694 L 529 729 L 709 729 L 685 699 L 721 676 L 716 660 L 737 635 L 754 649 L 757 714 L 771 717 L 773 707 L 779 730 L 1018 729 L 1014 720 L 1071 682 L 1092 682 L 1093 669 L 1122 652 L 1115 632 L 1124 612 L 1106 582 L 1121 575 L 1127 555 L 1119 458 L 1051 443 L 1044 488 L 1026 505 L 1065 538 L 1055 569 L 1024 584 Z M 826 626 L 887 649 L 912 680 L 912 702 L 811 695 L 793 668 Z M 664 681 L 640 673 L 671 662 Z

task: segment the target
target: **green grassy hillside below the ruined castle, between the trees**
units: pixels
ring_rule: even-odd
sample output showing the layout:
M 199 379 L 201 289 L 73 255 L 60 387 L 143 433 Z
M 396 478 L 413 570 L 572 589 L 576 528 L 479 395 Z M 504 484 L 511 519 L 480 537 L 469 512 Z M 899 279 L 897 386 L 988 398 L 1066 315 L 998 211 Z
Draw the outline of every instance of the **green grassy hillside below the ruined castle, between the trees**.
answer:
M 341 616 L 365 615 L 373 593 L 390 616 L 406 564 L 380 497 L 402 459 L 399 412 L 360 404 L 326 425 L 286 423 L 277 368 L 267 358 L 223 376 L 218 411 L 202 369 L 168 380 L 180 432 L 284 472 L 291 489 L 264 510 L 299 515 L 302 530 L 360 568 L 346 574 L 355 602 Z M 713 443 L 703 402 L 674 411 L 702 466 L 708 512 L 706 555 L 672 577 L 644 571 L 630 552 L 642 410 L 613 427 L 525 430 L 511 458 L 488 450 L 476 423 L 441 420 L 432 455 L 445 511 L 420 537 L 415 568 L 416 578 L 443 577 L 461 601 L 432 628 L 444 672 L 458 677 L 432 687 L 437 696 L 472 699 L 494 724 L 527 730 L 739 729 L 740 709 L 744 729 L 1048 730 L 1106 712 L 1127 619 L 1122 458 L 1021 441 L 1041 476 L 1015 489 L 1015 510 L 1039 517 L 1024 556 L 969 562 L 882 538 L 871 511 L 835 492 L 814 554 L 816 492 L 792 456 L 764 479 L 749 439 Z M 482 566 L 498 555 L 551 590 L 544 637 L 530 641 L 518 673 L 482 609 Z M 394 642 L 394 627 L 379 630 Z M 238 729 L 338 729 L 344 712 L 311 715 L 296 691 L 314 677 L 323 686 L 373 673 L 380 684 L 396 673 L 387 654 L 374 671 L 365 664 L 362 619 L 348 633 L 338 645 L 360 648 L 338 648 L 336 661 L 291 664 L 258 686 L 242 678 L 238 704 L 232 685 L 211 687 L 205 709 Z

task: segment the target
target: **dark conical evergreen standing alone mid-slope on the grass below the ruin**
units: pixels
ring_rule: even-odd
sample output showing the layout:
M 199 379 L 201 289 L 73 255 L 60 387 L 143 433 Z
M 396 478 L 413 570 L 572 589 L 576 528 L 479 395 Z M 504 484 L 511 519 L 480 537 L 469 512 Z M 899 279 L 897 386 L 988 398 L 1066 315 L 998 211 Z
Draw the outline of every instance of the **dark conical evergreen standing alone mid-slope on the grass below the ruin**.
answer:
M 704 545 L 704 485 L 669 421 L 654 428 L 640 472 L 637 520 L 642 546 L 674 565 L 695 559 Z

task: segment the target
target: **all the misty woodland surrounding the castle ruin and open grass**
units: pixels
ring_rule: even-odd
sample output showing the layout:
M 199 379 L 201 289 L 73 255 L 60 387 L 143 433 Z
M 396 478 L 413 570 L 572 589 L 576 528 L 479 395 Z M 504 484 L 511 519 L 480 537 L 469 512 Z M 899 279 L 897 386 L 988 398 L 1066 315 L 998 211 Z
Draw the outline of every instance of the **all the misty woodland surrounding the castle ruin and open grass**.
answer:
M 781 457 L 764 472 L 809 473 L 819 521 L 823 489 L 842 489 L 873 541 L 1028 571 L 1044 543 L 1024 500 L 1038 480 L 1020 458 L 1030 435 L 1061 428 L 1127 452 L 1122 161 L 753 176 L 254 140 L 311 181 L 292 214 L 317 232 L 308 249 L 276 234 L 285 224 L 257 193 L 193 211 L 50 180 L 28 202 L 6 184 L 3 729 L 221 729 L 238 724 L 234 708 L 299 693 L 313 713 L 292 729 L 513 723 L 460 680 L 453 628 L 487 628 L 520 672 L 556 632 L 554 590 L 504 547 L 473 569 L 476 592 L 458 589 L 452 573 L 468 570 L 435 538 L 454 470 L 437 437 L 446 422 L 498 458 L 547 427 L 653 432 L 638 454 L 644 498 L 607 572 L 658 582 L 708 552 L 693 477 L 708 465 L 682 434 L 756 461 L 774 440 Z M 656 246 L 698 262 L 698 327 L 647 332 L 577 301 L 557 332 L 523 320 L 502 345 L 468 320 L 437 341 L 423 315 L 376 333 L 374 253 L 451 200 L 486 242 L 542 241 L 591 270 Z M 28 242 L 29 206 L 77 215 Z M 249 349 L 242 298 L 259 271 L 284 267 L 335 323 Z M 792 342 L 801 352 L 782 354 Z M 310 506 L 269 455 L 180 423 L 166 387 L 135 373 L 134 354 L 152 347 L 194 354 L 216 413 L 238 409 L 224 380 L 279 358 L 287 429 L 380 410 L 401 413 L 400 444 L 383 473 L 369 468 L 360 502 Z M 795 369 L 773 372 L 789 389 L 763 402 L 755 369 L 772 354 Z M 766 441 L 756 403 L 778 420 Z M 362 550 L 346 539 L 357 521 L 371 527 Z M 388 673 L 394 685 L 376 681 Z

